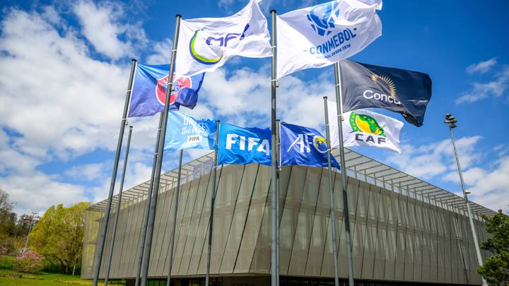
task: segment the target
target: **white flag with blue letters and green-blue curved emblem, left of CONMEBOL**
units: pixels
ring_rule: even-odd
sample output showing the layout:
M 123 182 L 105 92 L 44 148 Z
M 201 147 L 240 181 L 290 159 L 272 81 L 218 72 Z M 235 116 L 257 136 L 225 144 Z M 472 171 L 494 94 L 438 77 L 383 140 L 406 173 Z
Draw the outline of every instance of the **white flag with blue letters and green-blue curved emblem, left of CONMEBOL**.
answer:
M 233 16 L 181 20 L 175 74 L 214 71 L 232 56 L 271 56 L 267 19 L 251 0 Z

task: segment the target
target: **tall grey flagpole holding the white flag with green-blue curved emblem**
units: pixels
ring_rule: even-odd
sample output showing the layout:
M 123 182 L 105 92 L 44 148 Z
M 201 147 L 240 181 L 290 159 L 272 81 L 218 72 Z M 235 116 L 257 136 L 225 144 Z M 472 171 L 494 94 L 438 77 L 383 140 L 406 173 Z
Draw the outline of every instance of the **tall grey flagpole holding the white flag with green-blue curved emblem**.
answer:
M 144 267 L 143 272 L 141 274 L 141 286 L 146 286 L 147 276 L 148 276 L 148 266 L 150 265 L 150 255 L 151 255 L 151 247 L 152 247 L 152 237 L 153 237 L 153 227 L 154 221 L 156 220 L 156 206 L 158 201 L 159 194 L 159 181 L 160 181 L 160 172 L 163 166 L 163 153 L 164 153 L 164 141 L 166 138 L 166 125 L 168 124 L 168 109 L 170 107 L 170 95 L 171 89 L 173 85 L 173 69 L 175 68 L 175 57 L 177 56 L 177 44 L 178 44 L 178 35 L 180 30 L 180 18 L 182 16 L 177 15 L 175 23 L 175 35 L 173 37 L 173 48 L 172 48 L 172 56 L 170 61 L 170 71 L 168 74 L 168 88 L 166 89 L 166 98 L 165 98 L 165 108 L 163 111 L 163 124 L 161 125 L 160 136 L 157 138 L 158 145 L 158 157 L 156 161 L 156 171 L 154 172 L 154 182 L 153 182 L 153 193 L 151 198 L 151 206 L 150 206 L 150 215 L 148 216 L 148 228 L 147 228 L 147 237 L 144 251 Z

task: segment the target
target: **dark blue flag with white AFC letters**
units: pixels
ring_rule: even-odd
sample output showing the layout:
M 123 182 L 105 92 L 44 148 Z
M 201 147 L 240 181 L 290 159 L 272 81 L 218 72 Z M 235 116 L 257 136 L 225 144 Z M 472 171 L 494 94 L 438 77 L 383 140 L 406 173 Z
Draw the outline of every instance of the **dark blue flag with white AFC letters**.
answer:
M 327 140 L 316 129 L 281 123 L 281 165 L 328 167 Z M 331 166 L 339 164 L 331 156 Z

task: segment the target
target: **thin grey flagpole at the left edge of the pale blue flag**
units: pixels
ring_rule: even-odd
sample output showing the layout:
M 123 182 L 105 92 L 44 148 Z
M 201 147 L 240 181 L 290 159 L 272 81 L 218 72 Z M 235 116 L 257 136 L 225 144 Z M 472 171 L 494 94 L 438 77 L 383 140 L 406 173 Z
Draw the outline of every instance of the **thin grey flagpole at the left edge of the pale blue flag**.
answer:
M 162 112 L 159 115 L 159 128 L 158 128 L 158 135 L 156 138 L 159 138 L 159 136 L 160 136 L 161 125 L 163 125 L 163 113 Z M 139 283 L 140 283 L 141 266 L 143 264 L 143 256 L 144 256 L 144 251 L 145 251 L 146 230 L 147 230 L 147 226 L 148 226 L 148 215 L 149 215 L 151 198 L 152 198 L 153 180 L 154 180 L 154 176 L 156 175 L 156 163 L 157 163 L 157 157 L 158 157 L 158 149 L 159 149 L 159 141 L 156 142 L 156 150 L 154 150 L 150 186 L 148 187 L 147 201 L 145 203 L 144 225 L 141 229 L 141 239 L 140 239 L 140 243 L 138 246 L 138 249 L 139 249 L 138 250 L 138 262 L 137 262 L 138 264 L 136 266 L 136 281 L 134 283 L 135 286 L 139 286 Z

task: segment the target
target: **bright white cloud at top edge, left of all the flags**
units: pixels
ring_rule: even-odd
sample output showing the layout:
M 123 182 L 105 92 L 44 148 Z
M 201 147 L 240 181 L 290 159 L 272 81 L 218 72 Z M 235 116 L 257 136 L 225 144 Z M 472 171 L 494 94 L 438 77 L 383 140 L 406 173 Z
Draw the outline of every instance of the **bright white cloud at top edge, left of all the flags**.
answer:
M 120 59 L 134 54 L 134 44 L 144 46 L 147 39 L 139 25 L 119 23 L 125 17 L 122 6 L 103 2 L 80 1 L 73 8 L 81 23 L 83 35 L 93 44 L 97 52 Z M 127 40 L 121 40 L 124 37 Z

